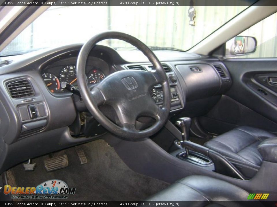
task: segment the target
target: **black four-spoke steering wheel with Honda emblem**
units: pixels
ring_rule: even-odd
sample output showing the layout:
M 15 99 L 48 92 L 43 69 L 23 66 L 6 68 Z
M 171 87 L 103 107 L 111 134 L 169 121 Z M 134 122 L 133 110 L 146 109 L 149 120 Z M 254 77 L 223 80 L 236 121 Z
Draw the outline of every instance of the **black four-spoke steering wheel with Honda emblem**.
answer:
M 93 89 L 87 86 L 86 62 L 91 49 L 105 39 L 119 39 L 138 48 L 154 66 L 154 72 L 121 70 L 107 76 Z M 141 139 L 157 133 L 167 121 L 170 110 L 170 87 L 166 73 L 156 55 L 140 40 L 122 32 L 103 32 L 87 41 L 78 55 L 77 83 L 82 99 L 93 117 L 111 133 L 126 139 Z M 161 84 L 163 106 L 156 105 L 151 97 L 151 89 Z M 99 109 L 110 106 L 117 115 L 116 122 L 107 118 Z M 136 119 L 140 116 L 152 117 L 156 122 L 149 128 L 137 130 Z

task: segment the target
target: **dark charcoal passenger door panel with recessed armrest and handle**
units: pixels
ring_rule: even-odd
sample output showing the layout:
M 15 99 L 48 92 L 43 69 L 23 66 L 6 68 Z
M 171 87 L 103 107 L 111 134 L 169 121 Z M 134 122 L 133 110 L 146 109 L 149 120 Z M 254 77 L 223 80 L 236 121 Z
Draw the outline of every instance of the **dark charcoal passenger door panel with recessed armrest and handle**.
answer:
M 221 134 L 244 125 L 277 134 L 277 59 L 228 59 L 224 64 L 232 86 L 199 118 L 203 128 Z

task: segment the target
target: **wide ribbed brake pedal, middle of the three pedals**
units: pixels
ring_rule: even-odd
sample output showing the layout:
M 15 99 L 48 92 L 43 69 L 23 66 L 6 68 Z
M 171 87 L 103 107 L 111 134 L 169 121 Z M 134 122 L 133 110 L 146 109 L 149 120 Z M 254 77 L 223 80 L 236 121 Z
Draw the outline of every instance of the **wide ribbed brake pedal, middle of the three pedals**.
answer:
M 44 166 L 45 166 L 47 172 L 65 168 L 68 166 L 67 155 L 58 156 L 58 157 L 50 158 L 48 160 L 44 160 Z

